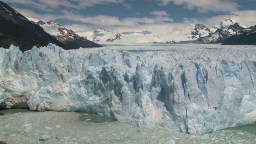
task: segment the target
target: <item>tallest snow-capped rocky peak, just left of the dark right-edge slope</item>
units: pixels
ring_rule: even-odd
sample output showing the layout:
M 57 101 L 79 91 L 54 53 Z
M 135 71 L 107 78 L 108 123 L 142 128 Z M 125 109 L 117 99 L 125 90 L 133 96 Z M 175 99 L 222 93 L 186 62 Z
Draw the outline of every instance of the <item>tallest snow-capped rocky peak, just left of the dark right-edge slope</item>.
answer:
M 240 32 L 240 30 L 243 30 L 244 28 L 239 26 L 234 20 L 226 18 L 219 26 L 214 26 L 211 30 L 215 29 L 216 31 L 214 33 L 199 38 L 198 42 L 204 44 L 222 43 L 228 37 Z

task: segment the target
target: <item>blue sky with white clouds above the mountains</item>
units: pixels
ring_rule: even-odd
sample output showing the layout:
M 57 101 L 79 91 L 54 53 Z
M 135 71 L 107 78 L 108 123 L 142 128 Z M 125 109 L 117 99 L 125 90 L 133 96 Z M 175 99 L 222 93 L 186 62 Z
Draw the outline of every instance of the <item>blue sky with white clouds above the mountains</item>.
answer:
M 27 18 L 56 22 L 88 36 L 148 30 L 177 33 L 187 26 L 219 25 L 229 17 L 240 26 L 256 25 L 256 0 L 2 0 Z

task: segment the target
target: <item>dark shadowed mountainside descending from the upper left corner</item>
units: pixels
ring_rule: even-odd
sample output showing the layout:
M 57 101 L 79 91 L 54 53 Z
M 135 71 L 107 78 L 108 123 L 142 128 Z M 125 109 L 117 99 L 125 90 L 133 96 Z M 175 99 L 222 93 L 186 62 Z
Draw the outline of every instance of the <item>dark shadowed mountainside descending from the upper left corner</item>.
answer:
M 62 34 L 65 35 L 65 32 Z M 49 43 L 61 46 L 65 50 L 80 47 L 101 47 L 101 45 L 86 38 L 75 38 L 73 41 L 60 41 L 45 32 L 40 25 L 31 22 L 6 3 L 0 1 L 0 47 L 9 48 L 11 44 L 14 44 L 19 46 L 22 52 L 30 50 L 33 46 L 47 46 Z

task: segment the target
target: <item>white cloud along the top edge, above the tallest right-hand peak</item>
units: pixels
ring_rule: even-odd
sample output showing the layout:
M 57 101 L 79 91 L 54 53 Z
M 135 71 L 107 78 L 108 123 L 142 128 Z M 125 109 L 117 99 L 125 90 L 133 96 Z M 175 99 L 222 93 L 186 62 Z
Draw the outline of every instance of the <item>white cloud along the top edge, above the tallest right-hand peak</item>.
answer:
M 184 5 L 184 8 L 193 10 L 196 8 L 200 13 L 206 12 L 232 12 L 237 10 L 238 4 L 231 0 L 158 0 L 161 6 L 170 2 L 176 5 Z

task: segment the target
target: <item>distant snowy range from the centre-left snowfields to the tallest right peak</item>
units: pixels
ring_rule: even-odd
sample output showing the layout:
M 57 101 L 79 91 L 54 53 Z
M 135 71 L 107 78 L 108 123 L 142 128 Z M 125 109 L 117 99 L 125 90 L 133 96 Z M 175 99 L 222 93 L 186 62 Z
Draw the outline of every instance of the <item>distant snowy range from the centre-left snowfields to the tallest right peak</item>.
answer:
M 98 29 L 92 36 L 87 38 L 92 41 L 118 41 L 118 42 L 138 42 L 138 43 L 200 43 L 217 44 L 224 42 L 230 36 L 237 34 L 244 27 L 239 26 L 231 18 L 226 18 L 220 25 L 207 28 L 203 24 L 188 26 L 179 34 L 157 34 L 150 31 L 140 32 L 112 32 Z

